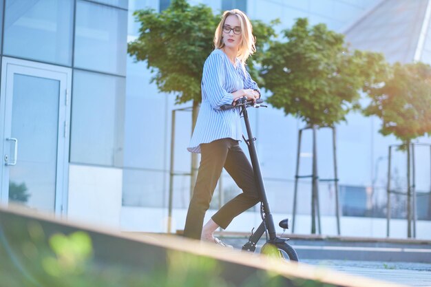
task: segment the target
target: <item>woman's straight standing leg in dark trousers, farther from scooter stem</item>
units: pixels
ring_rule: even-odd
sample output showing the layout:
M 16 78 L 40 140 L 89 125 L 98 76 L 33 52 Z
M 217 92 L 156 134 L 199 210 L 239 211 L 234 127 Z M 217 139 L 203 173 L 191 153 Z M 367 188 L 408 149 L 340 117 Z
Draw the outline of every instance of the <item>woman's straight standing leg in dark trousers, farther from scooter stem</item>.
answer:
M 184 228 L 185 237 L 200 240 L 204 216 L 209 209 L 209 203 L 231 145 L 232 142 L 229 138 L 222 138 L 209 144 L 200 145 L 202 155 L 198 178 L 196 179 L 195 189 L 187 212 Z

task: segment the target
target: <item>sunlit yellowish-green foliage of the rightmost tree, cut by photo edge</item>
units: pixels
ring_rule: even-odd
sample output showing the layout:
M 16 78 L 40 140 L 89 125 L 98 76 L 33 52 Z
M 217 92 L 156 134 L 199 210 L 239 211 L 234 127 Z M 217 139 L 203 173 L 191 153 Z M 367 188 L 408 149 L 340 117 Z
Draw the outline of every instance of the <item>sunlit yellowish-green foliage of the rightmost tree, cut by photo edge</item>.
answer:
M 367 116 L 383 120 L 380 133 L 403 142 L 431 133 L 431 67 L 395 63 L 380 87 L 370 89 Z

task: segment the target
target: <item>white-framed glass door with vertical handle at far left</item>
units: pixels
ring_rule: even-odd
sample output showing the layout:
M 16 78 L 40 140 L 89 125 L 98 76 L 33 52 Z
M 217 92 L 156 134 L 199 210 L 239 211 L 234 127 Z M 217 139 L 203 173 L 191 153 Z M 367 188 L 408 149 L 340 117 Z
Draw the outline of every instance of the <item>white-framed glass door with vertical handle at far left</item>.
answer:
M 3 57 L 1 202 L 65 213 L 70 69 Z

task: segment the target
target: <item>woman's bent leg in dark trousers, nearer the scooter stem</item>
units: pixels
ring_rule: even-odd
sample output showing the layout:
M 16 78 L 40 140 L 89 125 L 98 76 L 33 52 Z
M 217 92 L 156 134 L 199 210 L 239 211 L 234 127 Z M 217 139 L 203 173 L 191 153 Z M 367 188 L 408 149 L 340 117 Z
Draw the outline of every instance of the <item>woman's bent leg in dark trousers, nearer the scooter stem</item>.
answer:
M 255 206 L 260 201 L 253 173 L 253 167 L 246 158 L 244 151 L 237 143 L 233 145 L 227 154 L 224 169 L 231 175 L 242 193 L 233 198 L 213 215 L 213 221 L 223 229 L 231 223 L 233 218 L 247 209 Z

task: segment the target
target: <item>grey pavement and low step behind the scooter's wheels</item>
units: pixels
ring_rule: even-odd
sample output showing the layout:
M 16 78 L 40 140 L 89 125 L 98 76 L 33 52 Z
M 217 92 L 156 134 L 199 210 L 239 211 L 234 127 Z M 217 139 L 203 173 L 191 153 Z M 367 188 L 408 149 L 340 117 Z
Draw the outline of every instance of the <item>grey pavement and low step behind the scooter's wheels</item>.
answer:
M 238 249 L 247 241 L 244 234 L 220 233 L 220 237 Z M 260 240 L 256 252 L 264 242 Z M 431 287 L 428 240 L 293 235 L 289 244 L 305 264 L 406 286 Z

